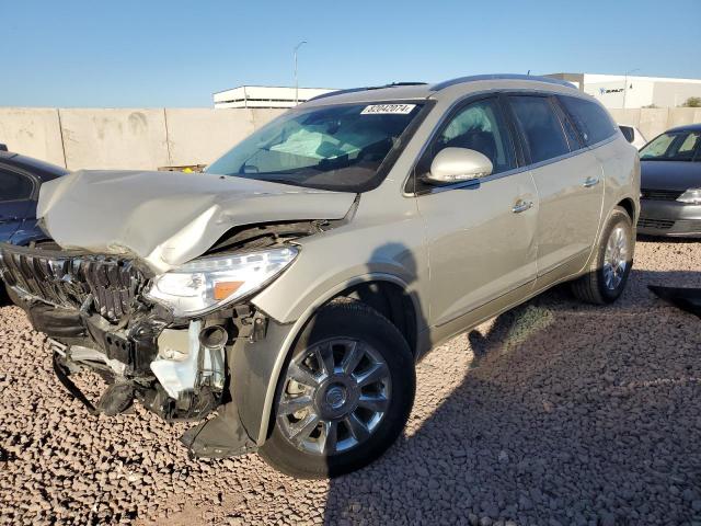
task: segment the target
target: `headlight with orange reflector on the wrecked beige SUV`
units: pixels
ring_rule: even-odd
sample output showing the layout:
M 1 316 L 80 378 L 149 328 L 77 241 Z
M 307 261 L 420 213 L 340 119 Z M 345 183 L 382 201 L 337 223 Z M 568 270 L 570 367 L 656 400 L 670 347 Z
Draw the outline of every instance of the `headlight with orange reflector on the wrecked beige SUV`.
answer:
M 193 260 L 156 276 L 146 293 L 176 318 L 204 315 L 267 285 L 297 256 L 294 247 Z

